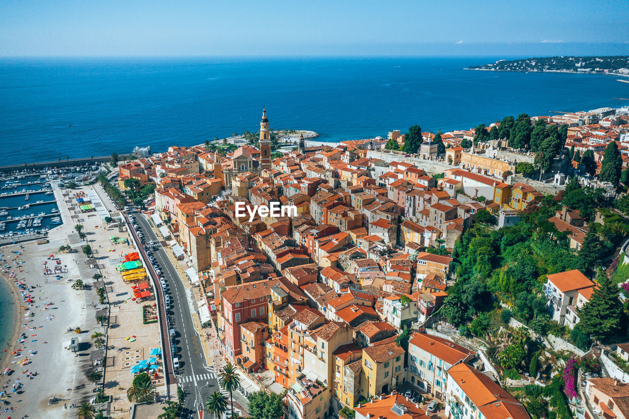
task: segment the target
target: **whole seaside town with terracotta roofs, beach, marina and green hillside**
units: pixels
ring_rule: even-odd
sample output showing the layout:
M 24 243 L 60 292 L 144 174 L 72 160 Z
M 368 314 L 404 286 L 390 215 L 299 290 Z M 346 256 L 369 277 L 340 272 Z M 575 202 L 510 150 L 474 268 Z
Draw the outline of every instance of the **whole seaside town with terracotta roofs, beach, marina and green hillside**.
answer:
M 3 418 L 629 418 L 629 108 L 271 120 L 4 172 Z

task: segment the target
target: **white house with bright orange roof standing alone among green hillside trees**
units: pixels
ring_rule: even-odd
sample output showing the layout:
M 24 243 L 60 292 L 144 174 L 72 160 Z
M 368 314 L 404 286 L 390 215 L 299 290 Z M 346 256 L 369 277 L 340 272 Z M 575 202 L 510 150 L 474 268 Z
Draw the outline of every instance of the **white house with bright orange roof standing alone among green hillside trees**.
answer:
M 553 312 L 553 320 L 573 328 L 579 323 L 579 308 L 589 301 L 596 284 L 578 269 L 546 277 L 548 281 L 544 284 L 543 291 Z

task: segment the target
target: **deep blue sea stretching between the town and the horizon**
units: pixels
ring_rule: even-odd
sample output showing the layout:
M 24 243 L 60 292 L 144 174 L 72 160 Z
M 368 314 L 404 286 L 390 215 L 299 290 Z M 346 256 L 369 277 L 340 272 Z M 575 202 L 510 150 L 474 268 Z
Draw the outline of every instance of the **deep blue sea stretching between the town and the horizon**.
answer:
M 338 141 L 629 102 L 610 75 L 464 70 L 496 59 L 0 59 L 0 165 L 194 145 L 257 130 L 263 107 Z

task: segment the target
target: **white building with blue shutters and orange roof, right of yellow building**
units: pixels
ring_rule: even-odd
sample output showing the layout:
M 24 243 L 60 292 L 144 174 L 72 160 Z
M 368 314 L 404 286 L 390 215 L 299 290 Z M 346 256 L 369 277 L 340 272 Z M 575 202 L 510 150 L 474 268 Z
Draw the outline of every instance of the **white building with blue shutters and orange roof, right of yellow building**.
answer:
M 408 381 L 426 393 L 445 401 L 450 367 L 469 362 L 475 353 L 444 338 L 413 333 L 408 341 Z

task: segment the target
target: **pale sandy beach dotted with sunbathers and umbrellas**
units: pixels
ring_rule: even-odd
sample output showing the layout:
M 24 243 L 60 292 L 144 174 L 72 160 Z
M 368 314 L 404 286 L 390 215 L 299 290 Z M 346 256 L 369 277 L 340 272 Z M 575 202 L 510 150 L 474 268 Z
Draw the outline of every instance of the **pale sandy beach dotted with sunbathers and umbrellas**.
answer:
M 64 403 L 72 398 L 77 357 L 67 345 L 77 336 L 74 328 L 84 325 L 86 310 L 84 291 L 71 287 L 80 277 L 77 253 L 58 251 L 72 232 L 72 223 L 63 213 L 64 224 L 50 230 L 48 243 L 0 247 L 3 279 L 19 304 L 14 306 L 17 321 L 10 346 L 3 351 L 8 356 L 3 357 L 2 371 L 9 368 L 9 372 L 1 377 L 1 391 L 6 392 L 2 418 L 66 418 L 70 412 Z M 51 274 L 45 275 L 45 269 Z M 87 333 L 79 339 L 90 340 Z

